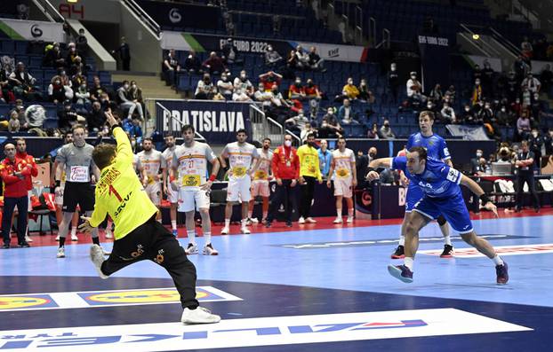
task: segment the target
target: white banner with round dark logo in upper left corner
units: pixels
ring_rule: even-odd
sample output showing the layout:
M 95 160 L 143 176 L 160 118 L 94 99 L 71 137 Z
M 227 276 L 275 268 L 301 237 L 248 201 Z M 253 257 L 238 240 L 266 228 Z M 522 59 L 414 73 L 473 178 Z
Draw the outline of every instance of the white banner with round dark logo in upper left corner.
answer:
M 0 38 L 13 40 L 63 42 L 63 28 L 60 23 L 36 20 L 0 19 Z

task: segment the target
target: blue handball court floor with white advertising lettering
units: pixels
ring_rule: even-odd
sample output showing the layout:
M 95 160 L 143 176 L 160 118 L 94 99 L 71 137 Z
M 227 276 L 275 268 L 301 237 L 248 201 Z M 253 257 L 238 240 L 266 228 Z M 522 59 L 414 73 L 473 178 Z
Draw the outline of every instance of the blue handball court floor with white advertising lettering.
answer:
M 0 251 L 0 351 L 553 350 L 553 216 L 474 225 L 509 263 L 507 286 L 454 232 L 456 257 L 439 258 L 436 224 L 421 231 L 413 284 L 386 269 L 402 262 L 389 257 L 399 225 L 215 236 L 219 256 L 189 259 L 217 325 L 180 325 L 153 262 L 102 280 L 88 243 L 65 259 L 55 246 Z

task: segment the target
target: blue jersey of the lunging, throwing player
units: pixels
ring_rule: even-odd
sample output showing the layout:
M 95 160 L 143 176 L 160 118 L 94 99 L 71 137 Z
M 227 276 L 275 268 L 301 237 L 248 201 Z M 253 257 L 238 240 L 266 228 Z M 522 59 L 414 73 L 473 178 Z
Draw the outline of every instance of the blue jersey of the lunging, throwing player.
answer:
M 440 160 L 428 159 L 421 174 L 413 175 L 407 170 L 407 158 L 398 156 L 392 159 L 392 168 L 402 170 L 412 184 L 421 187 L 422 192 L 431 198 L 448 198 L 461 194 L 462 174 Z

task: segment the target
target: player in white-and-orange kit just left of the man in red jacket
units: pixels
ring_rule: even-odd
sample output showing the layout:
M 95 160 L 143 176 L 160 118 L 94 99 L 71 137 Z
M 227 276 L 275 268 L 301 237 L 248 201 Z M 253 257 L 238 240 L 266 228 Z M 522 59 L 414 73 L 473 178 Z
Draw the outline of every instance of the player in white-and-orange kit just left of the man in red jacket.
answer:
M 250 210 L 248 213 L 248 219 L 252 223 L 259 223 L 259 220 L 252 217 L 253 207 L 255 206 L 255 197 L 261 196 L 263 199 L 262 215 L 263 220 L 267 220 L 268 215 L 268 198 L 271 195 L 271 191 L 268 188 L 268 180 L 273 178 L 270 174 L 271 162 L 273 160 L 273 151 L 271 151 L 271 140 L 269 138 L 263 139 L 263 145 L 257 149 L 257 153 L 260 154 L 260 161 L 257 169 L 253 173 L 252 181 L 252 199 L 250 200 Z

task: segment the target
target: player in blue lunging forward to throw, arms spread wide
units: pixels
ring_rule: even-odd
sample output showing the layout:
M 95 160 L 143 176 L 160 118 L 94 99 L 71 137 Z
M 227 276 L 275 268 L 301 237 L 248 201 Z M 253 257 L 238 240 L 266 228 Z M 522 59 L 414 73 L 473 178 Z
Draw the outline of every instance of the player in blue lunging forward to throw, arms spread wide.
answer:
M 419 231 L 439 215 L 451 223 L 453 230 L 461 234 L 461 239 L 478 252 L 493 260 L 496 282 L 505 285 L 509 281 L 507 262 L 495 253 L 493 246 L 479 238 L 472 228 L 469 210 L 462 198 L 461 187 L 469 187 L 484 204 L 485 209 L 497 216 L 497 207 L 488 199 L 480 186 L 458 170 L 447 166 L 443 161 L 427 157 L 426 149 L 415 146 L 409 149 L 406 157 L 382 158 L 371 161 L 366 178 L 373 181 L 379 178 L 372 168 L 394 168 L 405 172 L 411 183 L 418 184 L 423 197 L 413 207 L 405 224 L 405 259 L 403 265 L 389 265 L 389 273 L 403 282 L 413 282 L 413 260 L 419 246 Z

